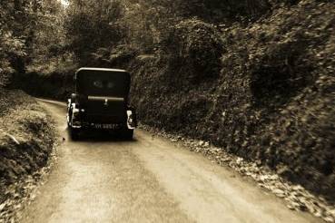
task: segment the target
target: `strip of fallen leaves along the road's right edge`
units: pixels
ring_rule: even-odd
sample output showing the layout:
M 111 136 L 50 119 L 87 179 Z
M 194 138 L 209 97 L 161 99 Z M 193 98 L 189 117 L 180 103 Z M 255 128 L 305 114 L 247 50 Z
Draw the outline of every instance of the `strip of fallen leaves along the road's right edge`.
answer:
M 181 136 L 159 131 L 148 126 L 140 126 L 146 131 L 154 132 L 174 143 L 182 144 L 181 148 L 202 153 L 212 162 L 222 166 L 231 167 L 233 170 L 254 179 L 257 184 L 271 191 L 276 197 L 284 199 L 291 210 L 310 212 L 317 218 L 326 222 L 335 222 L 335 205 L 330 204 L 320 196 L 316 196 L 301 185 L 293 184 L 282 179 L 277 173 L 260 165 L 260 162 L 244 160 L 241 157 L 229 154 L 222 148 L 214 147 L 207 141 L 196 141 Z M 232 175 L 233 177 L 234 175 Z

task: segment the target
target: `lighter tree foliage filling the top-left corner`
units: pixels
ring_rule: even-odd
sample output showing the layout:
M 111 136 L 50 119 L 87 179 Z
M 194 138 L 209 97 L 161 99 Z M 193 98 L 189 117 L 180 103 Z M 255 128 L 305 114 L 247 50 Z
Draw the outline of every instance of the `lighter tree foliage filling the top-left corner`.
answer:
M 45 56 L 45 48 L 54 35 L 58 18 L 54 9 L 59 9 L 56 0 L 10 0 L 0 5 L 0 85 L 5 86 L 12 80 L 13 74 L 25 73 L 26 63 L 36 57 Z M 53 22 L 52 22 L 53 21 Z M 48 26 L 48 29 L 45 27 Z M 47 33 L 47 31 L 54 33 Z M 54 38 L 53 38 L 54 37 Z M 41 41 L 41 40 L 48 41 Z M 39 47 L 35 47 L 38 45 Z M 44 55 L 42 55 L 44 54 Z

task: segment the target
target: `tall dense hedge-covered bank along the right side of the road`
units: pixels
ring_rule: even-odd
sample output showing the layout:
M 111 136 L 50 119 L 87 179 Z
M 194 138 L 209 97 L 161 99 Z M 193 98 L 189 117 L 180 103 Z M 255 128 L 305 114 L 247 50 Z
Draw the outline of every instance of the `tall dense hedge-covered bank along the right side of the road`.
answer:
M 163 54 L 130 66 L 141 121 L 212 141 L 334 199 L 334 10 L 300 1 L 222 28 L 222 42 L 211 24 L 176 25 Z

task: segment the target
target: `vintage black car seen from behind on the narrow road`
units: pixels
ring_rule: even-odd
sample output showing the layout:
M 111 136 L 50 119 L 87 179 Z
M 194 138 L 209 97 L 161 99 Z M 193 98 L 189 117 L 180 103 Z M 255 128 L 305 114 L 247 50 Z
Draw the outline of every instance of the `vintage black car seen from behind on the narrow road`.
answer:
M 130 73 L 118 69 L 81 68 L 74 76 L 75 92 L 67 104 L 71 137 L 83 130 L 113 130 L 132 139 L 137 125 L 129 105 Z

